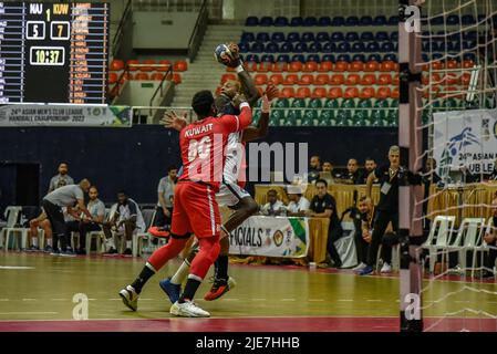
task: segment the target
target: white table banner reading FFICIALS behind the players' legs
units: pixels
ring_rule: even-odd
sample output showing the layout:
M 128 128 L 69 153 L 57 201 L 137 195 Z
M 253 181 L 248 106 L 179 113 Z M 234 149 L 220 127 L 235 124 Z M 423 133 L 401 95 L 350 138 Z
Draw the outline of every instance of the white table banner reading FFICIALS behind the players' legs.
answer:
M 229 253 L 302 258 L 309 250 L 309 222 L 306 218 L 248 218 L 229 235 Z

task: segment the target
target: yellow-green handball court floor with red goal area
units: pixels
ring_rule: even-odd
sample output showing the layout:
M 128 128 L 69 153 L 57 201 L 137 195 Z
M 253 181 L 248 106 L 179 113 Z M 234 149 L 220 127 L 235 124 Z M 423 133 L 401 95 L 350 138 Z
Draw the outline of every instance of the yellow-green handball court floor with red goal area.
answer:
M 230 264 L 237 287 L 206 302 L 206 281 L 198 304 L 210 319 L 179 319 L 158 281 L 173 274 L 178 261 L 165 267 L 144 288 L 138 311 L 117 295 L 144 264 L 141 258 L 76 257 L 0 251 L 0 331 L 183 331 L 183 332 L 328 332 L 398 331 L 397 275 L 356 277 L 350 270 Z M 465 287 L 483 291 L 463 291 Z M 462 309 L 496 314 L 495 281 L 459 278 L 425 280 L 425 329 L 497 331 L 497 320 Z M 448 295 L 449 293 L 454 293 Z M 89 299 L 89 320 L 73 320 L 75 294 Z M 444 315 L 455 312 L 457 316 Z

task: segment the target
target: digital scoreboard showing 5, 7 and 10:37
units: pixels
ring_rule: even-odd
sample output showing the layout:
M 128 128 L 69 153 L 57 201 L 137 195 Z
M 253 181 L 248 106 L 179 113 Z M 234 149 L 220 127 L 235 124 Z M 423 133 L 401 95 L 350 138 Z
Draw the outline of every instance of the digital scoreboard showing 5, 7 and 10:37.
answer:
M 108 3 L 0 2 L 0 104 L 104 104 Z

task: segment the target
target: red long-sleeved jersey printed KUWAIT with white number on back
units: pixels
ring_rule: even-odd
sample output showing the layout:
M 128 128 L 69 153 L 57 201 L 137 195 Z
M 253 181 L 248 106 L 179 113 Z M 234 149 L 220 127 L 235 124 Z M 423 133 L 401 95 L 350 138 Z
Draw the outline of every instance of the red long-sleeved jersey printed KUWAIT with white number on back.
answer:
M 179 133 L 183 175 L 179 180 L 203 181 L 219 190 L 226 159 L 226 145 L 231 133 L 241 132 L 252 121 L 247 103 L 240 105 L 241 113 L 208 117 L 191 123 Z

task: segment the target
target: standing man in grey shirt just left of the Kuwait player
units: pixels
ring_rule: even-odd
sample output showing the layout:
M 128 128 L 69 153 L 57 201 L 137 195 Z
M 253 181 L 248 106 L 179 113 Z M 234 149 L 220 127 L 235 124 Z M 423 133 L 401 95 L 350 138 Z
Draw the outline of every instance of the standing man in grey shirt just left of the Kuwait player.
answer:
M 167 168 L 167 176 L 161 178 L 157 187 L 158 202 L 154 226 L 170 226 L 173 216 L 174 189 L 176 187 L 178 169 L 175 166 Z

